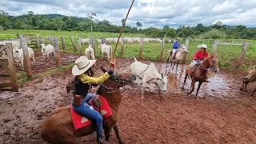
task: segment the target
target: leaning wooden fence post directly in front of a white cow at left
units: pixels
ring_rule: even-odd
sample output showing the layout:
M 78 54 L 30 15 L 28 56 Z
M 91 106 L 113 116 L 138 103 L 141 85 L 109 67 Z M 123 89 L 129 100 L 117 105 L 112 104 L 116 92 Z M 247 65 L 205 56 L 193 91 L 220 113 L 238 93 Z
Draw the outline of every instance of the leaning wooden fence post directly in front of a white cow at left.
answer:
M 22 42 L 22 50 L 23 50 L 23 55 L 24 55 L 25 67 L 26 67 L 26 76 L 27 76 L 27 78 L 31 78 L 32 71 L 31 71 L 29 50 L 27 49 L 26 38 L 21 36 L 21 42 Z

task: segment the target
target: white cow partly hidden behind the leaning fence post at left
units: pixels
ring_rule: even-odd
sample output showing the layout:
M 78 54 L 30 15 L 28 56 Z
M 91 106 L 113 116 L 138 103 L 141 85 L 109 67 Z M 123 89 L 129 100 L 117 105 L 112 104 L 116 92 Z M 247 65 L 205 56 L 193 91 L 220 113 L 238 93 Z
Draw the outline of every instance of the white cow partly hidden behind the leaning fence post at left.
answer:
M 29 58 L 32 58 L 34 60 L 34 66 L 35 66 L 35 59 L 34 59 L 34 50 L 31 49 L 30 47 L 27 47 L 29 51 Z M 14 47 L 13 49 L 14 53 L 14 60 L 15 62 L 19 63 L 19 66 L 22 66 L 24 68 L 24 55 L 23 55 L 23 50 L 18 49 L 18 47 Z

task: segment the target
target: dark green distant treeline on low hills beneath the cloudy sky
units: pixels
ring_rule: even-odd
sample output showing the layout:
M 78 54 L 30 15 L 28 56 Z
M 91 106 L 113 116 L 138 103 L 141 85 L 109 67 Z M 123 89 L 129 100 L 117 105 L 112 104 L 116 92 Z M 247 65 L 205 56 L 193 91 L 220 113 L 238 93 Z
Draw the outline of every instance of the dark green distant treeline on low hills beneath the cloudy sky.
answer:
M 67 31 L 97 31 L 119 33 L 121 26 L 114 26 L 108 20 L 94 20 L 96 14 L 87 14 L 86 18 L 67 17 L 60 14 L 28 14 L 11 16 L 0 10 L 0 30 L 67 30 Z M 120 25 L 123 20 L 120 21 Z M 136 26 L 126 26 L 124 33 L 146 34 L 149 38 L 242 38 L 256 39 L 256 27 L 226 26 L 222 22 L 216 22 L 212 26 L 178 26 L 175 30 L 169 26 L 162 29 L 149 27 L 141 29 L 142 23 Z

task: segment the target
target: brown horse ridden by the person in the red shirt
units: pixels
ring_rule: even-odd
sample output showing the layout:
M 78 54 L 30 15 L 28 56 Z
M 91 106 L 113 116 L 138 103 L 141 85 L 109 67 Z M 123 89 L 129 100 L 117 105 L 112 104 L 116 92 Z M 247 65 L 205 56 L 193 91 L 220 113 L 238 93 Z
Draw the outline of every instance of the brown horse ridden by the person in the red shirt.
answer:
M 212 54 L 210 54 L 210 57 L 204 59 L 202 63 L 196 65 L 195 67 L 193 66 L 193 67 L 190 67 L 190 68 L 186 69 L 186 75 L 185 75 L 185 79 L 184 79 L 182 89 L 184 90 L 184 85 L 186 83 L 186 78 L 188 76 L 190 76 L 190 78 L 192 78 L 191 87 L 190 87 L 191 90 L 187 94 L 191 94 L 194 91 L 195 82 L 199 82 L 198 83 L 198 90 L 197 90 L 197 94 L 196 94 L 196 97 L 198 98 L 198 91 L 200 89 L 200 86 L 202 85 L 202 82 L 205 82 L 206 73 L 210 68 L 214 71 L 214 73 L 218 72 L 217 54 L 212 53 Z

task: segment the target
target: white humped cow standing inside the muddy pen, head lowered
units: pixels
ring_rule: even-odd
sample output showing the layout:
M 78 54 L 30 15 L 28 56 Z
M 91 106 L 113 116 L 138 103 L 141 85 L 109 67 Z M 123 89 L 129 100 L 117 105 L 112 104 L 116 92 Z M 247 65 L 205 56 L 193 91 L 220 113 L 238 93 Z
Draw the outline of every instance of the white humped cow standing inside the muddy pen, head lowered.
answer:
M 154 85 L 158 87 L 160 98 L 162 98 L 161 91 L 166 91 L 167 76 L 159 74 L 158 70 L 156 70 L 154 66 L 154 63 L 152 62 L 150 65 L 146 65 L 145 63 L 138 62 L 136 58 L 134 58 L 134 60 L 135 62 L 130 65 L 129 73 L 134 74 L 137 78 L 142 79 L 142 100 L 144 100 L 144 90 L 146 88 L 146 83 L 154 83 Z

